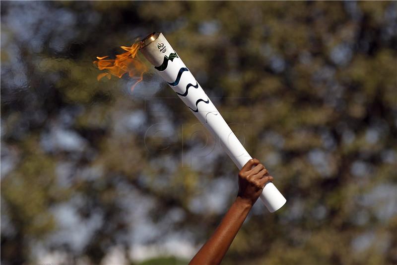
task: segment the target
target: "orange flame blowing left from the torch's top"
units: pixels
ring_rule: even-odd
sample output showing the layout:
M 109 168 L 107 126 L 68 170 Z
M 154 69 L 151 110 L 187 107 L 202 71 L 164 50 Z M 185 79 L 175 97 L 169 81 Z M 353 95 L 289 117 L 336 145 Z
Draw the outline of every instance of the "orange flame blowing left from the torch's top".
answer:
M 142 61 L 136 57 L 136 53 L 139 49 L 139 42 L 132 44 L 131 47 L 121 46 L 121 48 L 127 52 L 116 55 L 116 59 L 106 59 L 108 56 L 97 57 L 97 61 L 94 61 L 94 65 L 99 70 L 106 70 L 107 73 L 101 73 L 98 75 L 97 80 L 101 80 L 104 77 L 111 79 L 112 75 L 121 78 L 123 75 L 128 73 L 131 78 L 137 79 L 136 83 L 132 86 L 131 90 L 142 81 L 143 73 L 147 71 L 147 67 Z

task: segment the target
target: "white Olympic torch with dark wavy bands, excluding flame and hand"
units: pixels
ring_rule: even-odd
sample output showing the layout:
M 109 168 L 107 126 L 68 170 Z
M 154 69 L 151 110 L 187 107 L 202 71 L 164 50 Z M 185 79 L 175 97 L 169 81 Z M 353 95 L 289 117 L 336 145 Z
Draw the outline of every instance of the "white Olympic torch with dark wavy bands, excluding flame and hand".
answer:
M 199 121 L 219 138 L 221 146 L 239 169 L 252 159 L 162 33 L 153 32 L 144 38 L 139 50 Z M 266 183 L 260 198 L 270 212 L 286 202 L 272 182 Z

